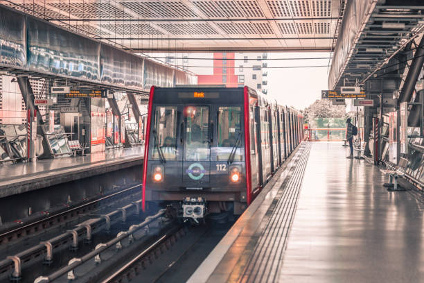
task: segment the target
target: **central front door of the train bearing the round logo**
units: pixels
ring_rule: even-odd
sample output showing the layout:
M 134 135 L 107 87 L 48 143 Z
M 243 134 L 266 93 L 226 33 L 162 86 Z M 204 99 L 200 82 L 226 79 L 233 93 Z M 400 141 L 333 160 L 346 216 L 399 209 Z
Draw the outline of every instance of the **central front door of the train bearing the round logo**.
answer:
M 211 142 L 207 105 L 184 105 L 182 127 L 182 176 L 188 189 L 209 187 Z

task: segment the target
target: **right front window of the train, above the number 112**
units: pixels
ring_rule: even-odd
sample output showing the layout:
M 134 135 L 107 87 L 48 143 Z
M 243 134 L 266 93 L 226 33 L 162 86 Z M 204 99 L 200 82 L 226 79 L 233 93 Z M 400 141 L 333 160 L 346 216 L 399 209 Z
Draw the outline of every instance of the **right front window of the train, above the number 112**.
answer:
M 218 147 L 216 148 L 216 160 L 228 160 L 231 152 L 234 161 L 242 160 L 242 130 L 241 108 L 220 107 L 218 108 Z

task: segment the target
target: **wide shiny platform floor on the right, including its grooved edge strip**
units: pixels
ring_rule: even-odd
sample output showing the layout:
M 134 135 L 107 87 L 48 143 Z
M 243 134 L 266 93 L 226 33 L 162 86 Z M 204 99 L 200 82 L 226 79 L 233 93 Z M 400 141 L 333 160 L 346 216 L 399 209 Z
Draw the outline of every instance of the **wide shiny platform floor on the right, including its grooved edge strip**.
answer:
M 424 282 L 422 195 L 387 191 L 342 144 L 310 146 L 303 178 L 305 144 L 189 282 Z

